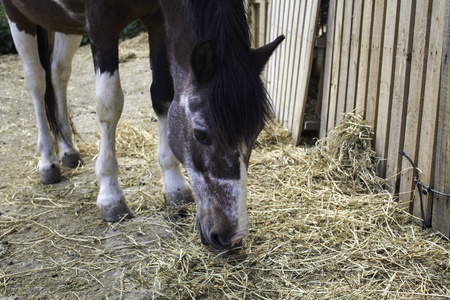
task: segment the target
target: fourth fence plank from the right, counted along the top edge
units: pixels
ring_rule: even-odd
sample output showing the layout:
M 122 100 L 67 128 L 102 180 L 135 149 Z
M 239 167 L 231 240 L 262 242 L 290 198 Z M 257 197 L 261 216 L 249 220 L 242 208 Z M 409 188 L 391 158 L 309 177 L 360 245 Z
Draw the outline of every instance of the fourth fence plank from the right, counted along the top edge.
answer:
M 386 5 L 386 24 L 384 26 L 384 41 L 382 65 L 377 109 L 377 127 L 375 151 L 382 158 L 379 164 L 379 175 L 386 175 L 386 157 L 389 145 L 390 114 L 392 103 L 392 88 L 394 81 L 394 66 L 397 41 L 398 1 L 388 1 Z M 396 114 L 396 112 L 394 112 Z M 401 118 L 401 116 L 396 116 Z M 398 149 L 400 150 L 400 149 Z

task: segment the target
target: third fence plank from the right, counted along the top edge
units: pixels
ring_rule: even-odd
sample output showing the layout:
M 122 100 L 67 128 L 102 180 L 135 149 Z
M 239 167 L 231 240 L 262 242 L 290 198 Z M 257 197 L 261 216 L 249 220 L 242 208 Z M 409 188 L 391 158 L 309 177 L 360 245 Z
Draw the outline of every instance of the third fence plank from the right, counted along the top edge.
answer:
M 405 136 L 406 106 L 409 93 L 409 80 L 411 71 L 412 38 L 414 33 L 415 3 L 402 0 L 399 12 L 399 28 L 397 34 L 397 53 L 395 60 L 395 75 L 392 94 L 392 114 L 390 121 L 390 135 L 387 153 L 386 178 L 387 186 L 391 192 L 399 190 L 400 157 L 403 150 Z

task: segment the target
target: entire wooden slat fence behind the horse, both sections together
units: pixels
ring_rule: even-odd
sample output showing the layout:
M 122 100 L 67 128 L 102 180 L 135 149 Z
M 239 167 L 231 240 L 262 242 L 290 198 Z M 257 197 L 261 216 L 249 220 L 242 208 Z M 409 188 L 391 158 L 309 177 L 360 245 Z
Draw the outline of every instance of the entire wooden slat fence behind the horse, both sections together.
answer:
M 277 119 L 301 135 L 320 0 L 248 0 L 255 46 L 286 41 L 266 68 Z M 356 111 L 370 122 L 387 178 L 405 210 L 450 237 L 450 199 L 415 191 L 420 181 L 450 193 L 450 0 L 330 0 L 321 137 Z

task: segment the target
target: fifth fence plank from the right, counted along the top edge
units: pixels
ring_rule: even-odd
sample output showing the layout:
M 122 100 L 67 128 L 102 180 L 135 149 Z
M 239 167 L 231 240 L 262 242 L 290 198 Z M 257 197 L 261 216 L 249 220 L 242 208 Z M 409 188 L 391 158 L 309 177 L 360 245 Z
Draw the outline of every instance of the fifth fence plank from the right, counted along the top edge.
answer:
M 374 132 L 376 132 L 377 128 L 377 110 L 380 91 L 381 58 L 385 21 L 384 16 L 385 0 L 375 0 L 366 103 L 366 120 L 369 121 Z M 376 139 L 376 136 L 374 136 L 374 138 Z

